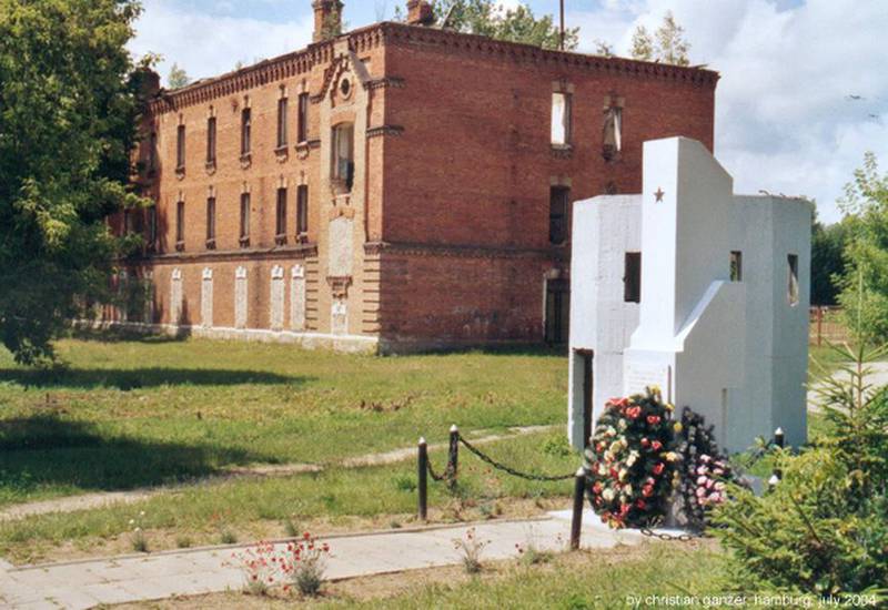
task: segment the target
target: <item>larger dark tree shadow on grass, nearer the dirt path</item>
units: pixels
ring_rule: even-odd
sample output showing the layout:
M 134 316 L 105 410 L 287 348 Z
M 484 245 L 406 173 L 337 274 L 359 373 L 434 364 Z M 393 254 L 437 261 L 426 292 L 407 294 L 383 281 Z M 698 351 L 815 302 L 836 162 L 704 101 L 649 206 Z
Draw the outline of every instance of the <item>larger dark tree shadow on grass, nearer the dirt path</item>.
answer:
M 112 491 L 182 482 L 272 461 L 240 448 L 109 436 L 54 415 L 0 421 L 0 499 L 38 488 Z

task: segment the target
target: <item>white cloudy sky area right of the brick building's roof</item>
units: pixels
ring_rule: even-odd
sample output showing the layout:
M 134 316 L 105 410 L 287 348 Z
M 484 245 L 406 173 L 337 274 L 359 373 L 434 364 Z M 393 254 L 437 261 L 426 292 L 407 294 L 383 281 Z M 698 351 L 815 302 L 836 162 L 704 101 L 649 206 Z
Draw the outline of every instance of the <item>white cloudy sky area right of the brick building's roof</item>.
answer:
M 821 217 L 871 150 L 888 165 L 888 71 L 881 0 L 604 0 L 571 14 L 582 44 L 627 53 L 635 26 L 656 28 L 672 10 L 692 61 L 722 73 L 716 154 L 738 191 L 805 194 Z M 849 100 L 860 95 L 861 100 Z

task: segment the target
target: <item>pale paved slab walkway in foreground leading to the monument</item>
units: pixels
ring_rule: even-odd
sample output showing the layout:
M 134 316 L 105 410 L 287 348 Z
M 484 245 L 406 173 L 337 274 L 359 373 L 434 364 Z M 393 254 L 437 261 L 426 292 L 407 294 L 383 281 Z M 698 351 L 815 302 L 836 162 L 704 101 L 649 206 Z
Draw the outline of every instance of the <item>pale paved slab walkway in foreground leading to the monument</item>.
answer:
M 394 530 L 324 539 L 331 557 L 325 578 L 339 580 L 404 570 L 454 566 L 461 556 L 454 540 L 470 526 Z M 569 515 L 553 512 L 526 521 L 475 526 L 481 540 L 490 540 L 482 561 L 518 555 L 516 545 L 532 542 L 538 550 L 564 550 L 569 540 Z M 612 531 L 591 512 L 584 515 L 584 548 L 607 549 L 638 545 L 637 531 Z M 282 548 L 284 542 L 279 542 Z M 215 547 L 188 551 L 127 556 L 6 569 L 0 566 L 0 607 L 17 610 L 81 610 L 98 604 L 159 600 L 239 590 L 243 572 L 230 565 L 233 552 L 245 547 Z

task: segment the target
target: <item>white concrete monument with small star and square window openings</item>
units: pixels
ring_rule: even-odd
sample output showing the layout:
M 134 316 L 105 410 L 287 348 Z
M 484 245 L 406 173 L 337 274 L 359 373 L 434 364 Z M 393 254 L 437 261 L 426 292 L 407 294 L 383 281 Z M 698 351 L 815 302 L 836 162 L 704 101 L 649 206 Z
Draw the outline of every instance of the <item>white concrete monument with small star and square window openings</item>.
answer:
M 645 143 L 644 193 L 574 205 L 569 437 L 657 385 L 739 451 L 806 438 L 809 202 L 734 194 L 695 140 Z

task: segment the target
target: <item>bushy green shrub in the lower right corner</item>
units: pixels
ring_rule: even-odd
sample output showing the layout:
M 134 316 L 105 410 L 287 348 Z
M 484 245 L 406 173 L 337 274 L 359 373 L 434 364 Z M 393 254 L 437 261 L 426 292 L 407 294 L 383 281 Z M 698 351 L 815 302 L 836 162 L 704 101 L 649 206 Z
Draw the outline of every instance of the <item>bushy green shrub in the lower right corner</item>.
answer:
M 888 582 L 888 499 L 859 500 L 835 451 L 783 454 L 783 480 L 765 496 L 735 488 L 715 533 L 741 572 L 778 589 L 861 593 Z M 740 575 L 741 576 L 741 575 Z

